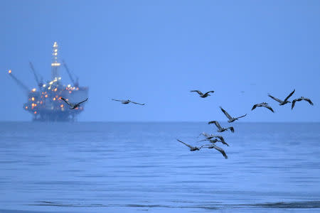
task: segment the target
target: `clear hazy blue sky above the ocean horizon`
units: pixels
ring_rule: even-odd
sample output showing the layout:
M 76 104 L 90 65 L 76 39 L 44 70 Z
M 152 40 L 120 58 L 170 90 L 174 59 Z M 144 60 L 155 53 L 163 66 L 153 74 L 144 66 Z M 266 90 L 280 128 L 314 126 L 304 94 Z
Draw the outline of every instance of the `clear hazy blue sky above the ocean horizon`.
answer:
M 36 87 L 31 60 L 49 80 L 57 41 L 90 87 L 79 121 L 225 120 L 219 106 L 242 121 L 320 121 L 320 1 L 1 1 L 0 27 L 0 120 L 31 120 L 7 72 Z M 267 97 L 293 89 L 314 107 Z M 251 111 L 260 102 L 276 113 Z

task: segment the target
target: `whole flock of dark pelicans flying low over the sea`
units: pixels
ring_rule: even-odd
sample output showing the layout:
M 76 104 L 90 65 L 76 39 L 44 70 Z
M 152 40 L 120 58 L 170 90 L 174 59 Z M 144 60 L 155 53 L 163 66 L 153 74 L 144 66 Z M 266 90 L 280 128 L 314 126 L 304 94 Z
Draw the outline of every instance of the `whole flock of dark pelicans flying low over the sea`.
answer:
M 191 90 L 191 92 L 197 92 L 201 98 L 206 98 L 206 97 L 210 96 L 210 93 L 213 93 L 214 91 L 209 91 L 209 92 L 206 92 L 205 94 L 203 94 L 199 90 Z M 268 96 L 271 97 L 272 99 L 274 99 L 275 101 L 279 102 L 279 105 L 282 106 L 284 104 L 291 103 L 288 101 L 288 99 L 290 97 L 292 97 L 292 94 L 294 94 L 294 92 L 295 92 L 295 89 L 283 101 L 281 99 L 273 97 L 271 94 L 268 94 Z M 80 104 L 87 101 L 87 99 L 85 99 L 82 102 L 73 104 L 73 103 L 68 102 L 68 99 L 64 99 L 63 97 L 60 97 L 60 99 L 62 99 L 66 104 L 68 104 L 70 109 L 76 109 L 77 107 L 80 107 Z M 137 102 L 132 102 L 129 99 L 127 99 L 127 100 L 112 99 L 112 100 L 116 101 L 116 102 L 121 102 L 122 104 L 129 104 L 129 103 L 139 104 Z M 309 102 L 309 104 L 311 104 L 311 105 L 314 105 L 310 99 L 305 98 L 305 97 L 299 97 L 298 99 L 292 100 L 291 109 L 294 108 L 294 104 L 296 102 L 301 102 L 302 100 Z M 139 105 L 144 105 L 144 104 L 139 104 Z M 257 107 L 265 107 L 265 108 L 269 109 L 270 111 L 274 112 L 272 107 L 270 107 L 266 102 L 262 102 L 260 104 L 253 105 L 251 110 L 253 110 Z M 247 116 L 247 114 L 244 114 L 242 116 L 233 117 L 233 116 L 230 116 L 230 114 L 228 114 L 228 112 L 225 111 L 225 109 L 223 109 L 222 107 L 220 107 L 220 109 L 221 109 L 221 111 L 223 111 L 223 114 L 225 114 L 225 116 L 228 118 L 228 123 L 232 123 L 233 121 L 236 121 L 244 116 Z M 218 121 L 209 121 L 208 124 L 215 124 L 215 126 L 218 129 L 217 132 L 223 132 L 223 131 L 228 131 L 228 130 L 230 130 L 232 133 L 235 132 L 235 129 L 233 128 L 233 126 L 229 126 L 226 128 L 221 127 Z M 223 138 L 223 136 L 219 136 L 219 135 L 215 135 L 215 134 L 208 134 L 206 132 L 201 133 L 199 136 L 201 136 L 201 135 L 205 137 L 205 139 L 203 139 L 201 141 L 208 141 L 208 142 L 210 142 L 210 144 L 205 144 L 203 146 L 197 147 L 197 146 L 191 146 L 188 143 L 184 143 L 183 141 L 181 141 L 179 139 L 176 139 L 176 140 L 183 143 L 184 145 L 188 146 L 188 148 L 190 148 L 190 151 L 199 151 L 201 148 L 214 148 L 215 150 L 219 151 L 223 155 L 223 157 L 225 157 L 225 159 L 228 158 L 228 155 L 225 154 L 225 151 L 223 150 L 223 148 L 220 148 L 219 146 L 215 145 L 215 143 L 220 142 L 226 146 L 229 146 L 229 144 L 225 142 L 225 139 Z M 198 141 L 198 142 L 200 142 L 200 141 Z

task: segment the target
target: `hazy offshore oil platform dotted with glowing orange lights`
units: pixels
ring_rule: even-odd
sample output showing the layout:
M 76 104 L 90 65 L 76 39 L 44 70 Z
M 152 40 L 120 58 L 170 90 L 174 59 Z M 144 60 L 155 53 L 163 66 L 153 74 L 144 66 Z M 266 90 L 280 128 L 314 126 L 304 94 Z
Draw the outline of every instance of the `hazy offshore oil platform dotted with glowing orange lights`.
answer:
M 80 102 L 87 98 L 88 87 L 80 87 L 78 77 L 72 73 L 63 61 L 63 66 L 68 72 L 72 84 L 65 85 L 61 82 L 59 75 L 60 62 L 58 62 L 58 43 L 53 44 L 51 62 L 51 80 L 46 83 L 36 72 L 30 62 L 31 71 L 38 84 L 38 88 L 29 89 L 21 80 L 9 70 L 9 75 L 28 95 L 28 102 L 23 104 L 23 109 L 33 115 L 33 121 L 75 121 L 78 114 L 83 111 L 81 107 L 70 109 L 60 97 L 64 97 L 69 102 Z

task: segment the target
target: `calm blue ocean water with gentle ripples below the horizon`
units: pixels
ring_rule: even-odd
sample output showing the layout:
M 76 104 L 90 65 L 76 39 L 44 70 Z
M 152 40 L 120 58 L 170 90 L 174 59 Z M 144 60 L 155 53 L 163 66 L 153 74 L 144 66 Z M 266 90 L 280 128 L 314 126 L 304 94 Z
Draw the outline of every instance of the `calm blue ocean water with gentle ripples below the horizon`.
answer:
M 0 212 L 320 212 L 319 123 L 233 126 L 1 122 Z

